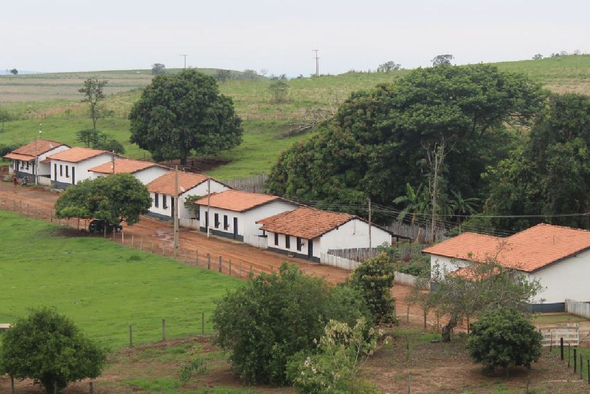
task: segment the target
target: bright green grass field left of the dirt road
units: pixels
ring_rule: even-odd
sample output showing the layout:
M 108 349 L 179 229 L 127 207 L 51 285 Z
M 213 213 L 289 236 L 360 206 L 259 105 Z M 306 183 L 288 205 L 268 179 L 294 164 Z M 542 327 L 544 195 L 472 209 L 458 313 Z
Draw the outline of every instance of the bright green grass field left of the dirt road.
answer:
M 201 313 L 243 281 L 105 239 L 61 237 L 57 225 L 0 211 L 0 323 L 55 306 L 114 349 L 201 332 Z M 205 330 L 211 333 L 206 321 Z

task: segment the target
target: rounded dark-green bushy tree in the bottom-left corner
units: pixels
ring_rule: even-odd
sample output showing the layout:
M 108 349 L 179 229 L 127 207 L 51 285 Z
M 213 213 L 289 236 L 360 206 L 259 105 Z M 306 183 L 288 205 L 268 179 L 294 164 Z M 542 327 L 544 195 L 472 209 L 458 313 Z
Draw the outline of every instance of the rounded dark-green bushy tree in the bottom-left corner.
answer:
M 31 310 L 6 331 L 0 350 L 2 370 L 17 379 L 33 379 L 47 390 L 100 375 L 106 352 L 54 308 Z

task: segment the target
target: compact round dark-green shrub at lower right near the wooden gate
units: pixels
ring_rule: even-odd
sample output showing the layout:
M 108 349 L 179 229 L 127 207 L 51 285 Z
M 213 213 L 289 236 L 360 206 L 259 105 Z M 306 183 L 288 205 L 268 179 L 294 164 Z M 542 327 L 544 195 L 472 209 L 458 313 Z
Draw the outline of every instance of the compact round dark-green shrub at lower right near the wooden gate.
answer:
M 476 363 L 487 371 L 494 367 L 525 366 L 541 355 L 542 335 L 519 311 L 494 308 L 473 324 L 467 339 L 467 350 Z

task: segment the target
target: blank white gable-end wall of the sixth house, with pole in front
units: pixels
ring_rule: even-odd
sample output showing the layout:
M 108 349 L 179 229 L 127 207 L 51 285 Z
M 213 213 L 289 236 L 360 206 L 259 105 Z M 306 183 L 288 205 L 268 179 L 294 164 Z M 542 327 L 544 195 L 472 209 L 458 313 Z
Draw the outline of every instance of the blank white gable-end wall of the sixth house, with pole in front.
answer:
M 381 228 L 371 226 L 371 246 L 375 248 L 382 244 L 391 245 L 391 234 Z M 322 235 L 319 252 L 326 253 L 330 249 L 368 247 L 369 224 L 359 219 L 352 219 Z

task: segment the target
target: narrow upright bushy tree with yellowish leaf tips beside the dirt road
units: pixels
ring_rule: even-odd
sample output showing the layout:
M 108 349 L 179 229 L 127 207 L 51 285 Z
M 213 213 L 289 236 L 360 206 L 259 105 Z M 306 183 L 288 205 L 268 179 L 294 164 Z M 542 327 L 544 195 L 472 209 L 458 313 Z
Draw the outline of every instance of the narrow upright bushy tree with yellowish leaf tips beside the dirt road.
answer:
M 394 285 L 395 266 L 385 253 L 369 258 L 352 272 L 346 283 L 365 297 L 376 323 L 393 319 L 394 301 L 391 287 Z

